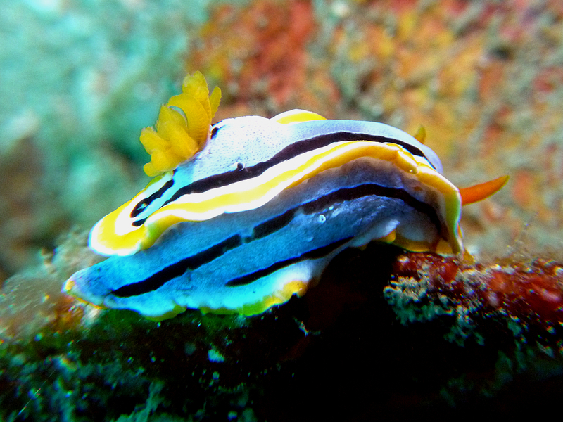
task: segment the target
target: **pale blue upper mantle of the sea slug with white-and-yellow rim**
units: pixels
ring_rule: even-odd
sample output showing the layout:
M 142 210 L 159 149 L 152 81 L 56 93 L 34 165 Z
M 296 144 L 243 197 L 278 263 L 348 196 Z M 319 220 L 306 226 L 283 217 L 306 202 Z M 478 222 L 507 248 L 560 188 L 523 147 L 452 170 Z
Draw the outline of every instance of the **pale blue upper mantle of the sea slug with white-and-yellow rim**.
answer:
M 360 134 L 377 141 L 354 140 Z M 347 138 L 352 140 L 335 141 Z M 150 247 L 172 224 L 253 210 L 327 167 L 362 156 L 386 158 L 413 172 L 413 179 L 434 185 L 450 202 L 459 200 L 453 198 L 455 186 L 441 177 L 441 162 L 434 151 L 386 124 L 355 120 L 280 124 L 258 116 L 237 117 L 215 124 L 210 141 L 192 160 L 162 174 L 96 224 L 90 244 L 105 255 L 132 255 Z M 452 222 L 458 217 L 450 212 Z

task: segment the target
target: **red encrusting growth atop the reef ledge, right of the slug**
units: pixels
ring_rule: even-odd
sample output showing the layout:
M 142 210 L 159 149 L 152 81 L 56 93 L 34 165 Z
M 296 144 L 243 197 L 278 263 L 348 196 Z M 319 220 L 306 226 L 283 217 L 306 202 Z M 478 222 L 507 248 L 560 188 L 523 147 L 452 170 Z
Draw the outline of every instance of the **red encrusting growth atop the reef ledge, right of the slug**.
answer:
M 472 264 L 455 257 L 410 253 L 400 257 L 397 278 L 426 281 L 429 293 L 445 295 L 465 307 L 501 312 L 543 326 L 563 324 L 563 264 L 534 260 L 507 264 Z

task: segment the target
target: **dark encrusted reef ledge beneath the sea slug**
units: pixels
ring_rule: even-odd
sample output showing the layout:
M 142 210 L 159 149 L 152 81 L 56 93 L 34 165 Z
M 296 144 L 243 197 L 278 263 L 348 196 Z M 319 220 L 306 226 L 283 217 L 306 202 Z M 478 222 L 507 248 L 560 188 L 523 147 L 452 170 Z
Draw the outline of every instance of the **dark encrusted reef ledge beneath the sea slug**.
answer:
M 69 236 L 4 286 L 3 420 L 510 415 L 563 388 L 563 262 L 481 264 L 372 243 L 264 314 L 189 309 L 156 323 L 58 293 L 94 259 L 85 243 Z M 27 291 L 36 279 L 44 290 Z

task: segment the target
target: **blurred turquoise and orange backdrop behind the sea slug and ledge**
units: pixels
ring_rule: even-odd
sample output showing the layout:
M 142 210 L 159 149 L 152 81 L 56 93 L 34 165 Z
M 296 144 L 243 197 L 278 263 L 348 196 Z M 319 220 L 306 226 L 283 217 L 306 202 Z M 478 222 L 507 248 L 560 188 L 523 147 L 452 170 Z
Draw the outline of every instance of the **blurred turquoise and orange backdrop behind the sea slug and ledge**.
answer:
M 0 283 L 149 179 L 142 127 L 201 70 L 216 120 L 420 125 L 445 175 L 510 174 L 469 251 L 563 256 L 560 0 L 0 0 Z

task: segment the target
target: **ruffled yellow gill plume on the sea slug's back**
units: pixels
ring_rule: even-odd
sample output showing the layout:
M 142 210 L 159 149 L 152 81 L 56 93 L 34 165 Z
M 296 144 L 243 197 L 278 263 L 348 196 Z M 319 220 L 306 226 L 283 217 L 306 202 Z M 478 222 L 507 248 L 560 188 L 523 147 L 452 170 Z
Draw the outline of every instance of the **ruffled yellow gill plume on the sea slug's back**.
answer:
M 148 176 L 174 170 L 205 145 L 220 100 L 221 89 L 215 87 L 209 95 L 201 72 L 184 78 L 182 94 L 160 107 L 156 130 L 146 127 L 141 131 L 141 143 L 151 155 L 151 162 L 144 165 Z

